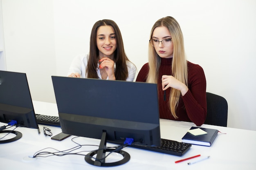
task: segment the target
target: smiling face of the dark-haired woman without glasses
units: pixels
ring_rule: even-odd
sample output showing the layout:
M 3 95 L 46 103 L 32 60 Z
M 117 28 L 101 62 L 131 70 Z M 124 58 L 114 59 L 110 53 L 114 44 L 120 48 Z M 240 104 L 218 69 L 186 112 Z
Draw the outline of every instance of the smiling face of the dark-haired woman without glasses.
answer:
M 100 26 L 97 30 L 96 39 L 99 49 L 99 58 L 109 57 L 113 60 L 114 52 L 117 49 L 117 41 L 112 26 Z

